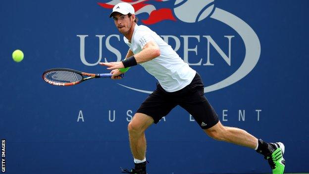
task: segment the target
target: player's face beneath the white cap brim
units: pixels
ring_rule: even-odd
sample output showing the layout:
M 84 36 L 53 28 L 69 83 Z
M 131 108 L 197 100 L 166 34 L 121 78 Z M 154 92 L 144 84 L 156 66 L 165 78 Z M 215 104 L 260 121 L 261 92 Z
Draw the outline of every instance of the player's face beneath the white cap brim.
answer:
M 128 15 L 123 15 L 121 13 L 115 13 L 113 15 L 113 19 L 119 32 L 123 35 L 125 35 L 131 29 L 134 22 L 134 20 L 132 21 L 133 15 L 129 17 Z

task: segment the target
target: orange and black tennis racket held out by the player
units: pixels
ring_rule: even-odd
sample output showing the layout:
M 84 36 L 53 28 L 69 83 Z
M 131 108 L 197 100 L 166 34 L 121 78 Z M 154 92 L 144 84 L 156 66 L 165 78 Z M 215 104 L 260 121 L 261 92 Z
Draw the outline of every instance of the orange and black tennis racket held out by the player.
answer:
M 49 69 L 46 70 L 42 75 L 46 82 L 56 86 L 76 85 L 92 78 L 110 78 L 111 76 L 111 73 L 93 74 L 69 68 Z M 123 77 L 124 75 L 121 74 L 119 76 Z

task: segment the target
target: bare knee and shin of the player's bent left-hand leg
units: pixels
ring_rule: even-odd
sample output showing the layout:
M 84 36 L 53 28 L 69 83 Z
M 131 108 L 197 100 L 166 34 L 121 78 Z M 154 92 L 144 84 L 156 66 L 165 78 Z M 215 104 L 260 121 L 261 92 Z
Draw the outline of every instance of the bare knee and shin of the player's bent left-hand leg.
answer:
M 154 123 L 151 116 L 136 113 L 128 125 L 130 147 L 134 159 L 144 160 L 146 156 L 145 130 Z

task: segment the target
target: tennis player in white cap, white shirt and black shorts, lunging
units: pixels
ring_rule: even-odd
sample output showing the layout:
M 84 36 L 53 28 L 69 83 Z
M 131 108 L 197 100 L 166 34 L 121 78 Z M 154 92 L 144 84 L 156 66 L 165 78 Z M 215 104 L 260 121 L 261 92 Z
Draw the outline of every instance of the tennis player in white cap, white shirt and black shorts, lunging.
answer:
M 140 64 L 158 80 L 155 91 L 141 104 L 128 125 L 135 167 L 131 171 L 122 169 L 124 173 L 147 174 L 144 131 L 179 105 L 194 117 L 211 138 L 255 149 L 268 160 L 273 174 L 283 174 L 284 145 L 281 142 L 266 143 L 245 130 L 223 126 L 204 96 L 201 76 L 154 31 L 147 26 L 137 25 L 138 19 L 131 4 L 116 4 L 109 17 L 114 19 L 117 29 L 124 35 L 129 51 L 124 60 L 100 64 L 112 70 L 112 79 L 120 79 L 117 76 L 128 67 Z

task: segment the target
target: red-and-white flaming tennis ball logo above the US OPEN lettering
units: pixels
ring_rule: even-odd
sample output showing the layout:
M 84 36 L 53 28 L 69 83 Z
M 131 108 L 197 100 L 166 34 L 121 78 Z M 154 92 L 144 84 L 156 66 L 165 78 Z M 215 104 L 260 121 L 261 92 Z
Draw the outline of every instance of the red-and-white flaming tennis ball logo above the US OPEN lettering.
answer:
M 155 2 L 165 3 L 165 6 L 155 6 Z M 134 9 L 135 14 L 148 13 L 147 19 L 141 21 L 146 25 L 158 23 L 162 20 L 177 21 L 177 19 L 193 23 L 205 19 L 214 9 L 214 0 L 176 0 L 172 5 L 168 5 L 167 1 L 172 0 L 112 0 L 110 2 L 98 4 L 104 8 L 112 9 L 114 5 L 119 2 L 130 3 Z

